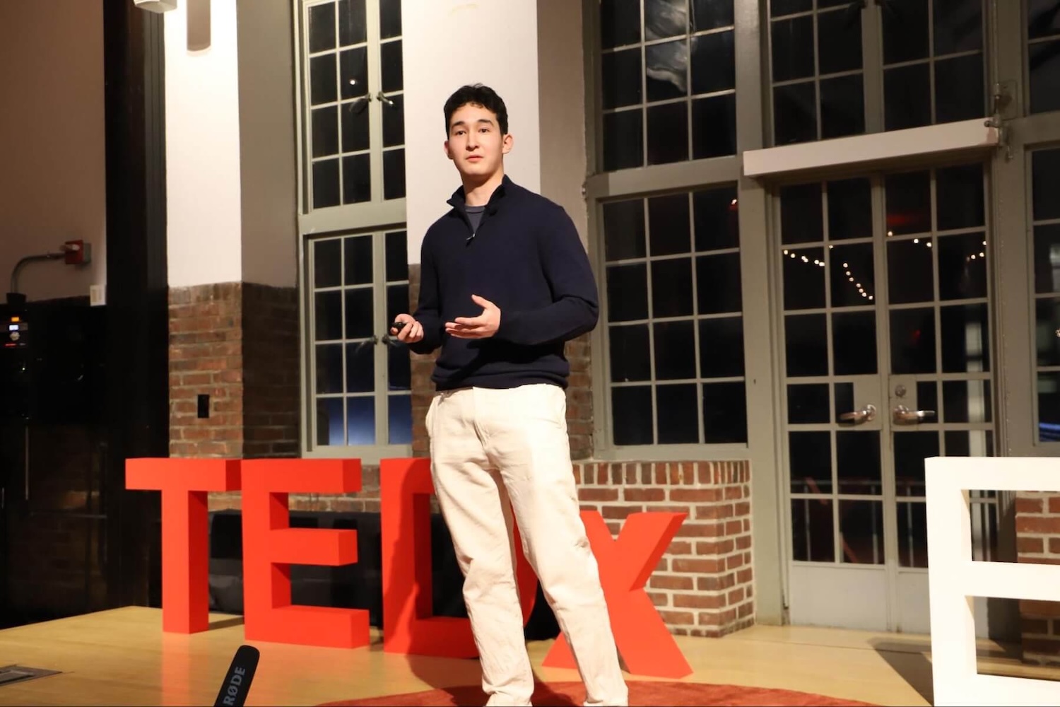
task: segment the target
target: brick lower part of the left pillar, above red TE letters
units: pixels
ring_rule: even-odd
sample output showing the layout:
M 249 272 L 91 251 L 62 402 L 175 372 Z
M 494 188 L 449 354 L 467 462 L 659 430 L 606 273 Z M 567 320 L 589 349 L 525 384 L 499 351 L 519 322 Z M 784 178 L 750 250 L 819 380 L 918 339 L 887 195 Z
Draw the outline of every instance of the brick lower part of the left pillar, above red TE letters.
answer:
M 220 283 L 170 290 L 170 454 L 298 454 L 298 296 Z M 210 396 L 199 418 L 198 395 Z

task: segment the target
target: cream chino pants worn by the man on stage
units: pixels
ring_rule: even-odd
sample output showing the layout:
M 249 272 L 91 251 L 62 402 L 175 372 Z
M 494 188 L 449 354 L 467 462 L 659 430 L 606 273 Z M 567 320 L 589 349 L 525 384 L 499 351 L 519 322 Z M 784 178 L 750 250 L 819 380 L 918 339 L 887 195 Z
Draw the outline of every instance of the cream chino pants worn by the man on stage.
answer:
M 464 575 L 487 705 L 529 705 L 533 672 L 515 584 L 512 510 L 585 683 L 586 705 L 626 705 L 596 558 L 579 515 L 559 386 L 464 388 L 427 412 L 431 476 Z

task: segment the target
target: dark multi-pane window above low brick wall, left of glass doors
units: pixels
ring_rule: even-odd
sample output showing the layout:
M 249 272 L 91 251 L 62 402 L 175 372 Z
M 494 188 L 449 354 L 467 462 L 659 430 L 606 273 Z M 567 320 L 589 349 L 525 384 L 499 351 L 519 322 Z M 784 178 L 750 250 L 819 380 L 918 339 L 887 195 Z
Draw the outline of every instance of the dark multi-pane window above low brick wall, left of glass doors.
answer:
M 737 190 L 603 206 L 615 445 L 747 440 Z

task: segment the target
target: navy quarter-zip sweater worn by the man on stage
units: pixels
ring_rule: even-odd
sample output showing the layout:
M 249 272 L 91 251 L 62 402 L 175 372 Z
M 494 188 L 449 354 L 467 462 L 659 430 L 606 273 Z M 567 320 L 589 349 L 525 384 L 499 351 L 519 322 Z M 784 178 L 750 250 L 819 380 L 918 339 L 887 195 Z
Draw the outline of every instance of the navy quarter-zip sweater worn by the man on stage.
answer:
M 412 315 L 423 325 L 423 339 L 409 348 L 420 354 L 442 348 L 431 376 L 438 390 L 534 383 L 566 388 L 570 366 L 563 344 L 591 331 L 600 308 L 573 222 L 562 207 L 508 176 L 477 228 L 463 189 L 448 204 L 453 209 L 423 240 Z M 500 326 L 490 338 L 445 333 L 445 322 L 482 314 L 472 295 L 500 308 Z

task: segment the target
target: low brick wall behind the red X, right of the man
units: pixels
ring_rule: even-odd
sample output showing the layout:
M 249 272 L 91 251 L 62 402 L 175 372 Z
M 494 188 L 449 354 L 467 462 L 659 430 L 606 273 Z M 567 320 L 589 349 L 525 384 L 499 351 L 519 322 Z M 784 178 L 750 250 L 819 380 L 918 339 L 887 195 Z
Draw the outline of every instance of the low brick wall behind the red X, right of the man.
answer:
M 748 462 L 584 462 L 575 476 L 582 509 L 616 536 L 630 513 L 688 513 L 648 581 L 672 633 L 717 637 L 755 622 Z

